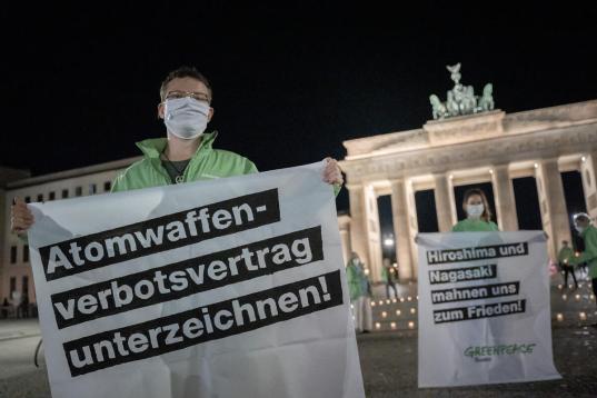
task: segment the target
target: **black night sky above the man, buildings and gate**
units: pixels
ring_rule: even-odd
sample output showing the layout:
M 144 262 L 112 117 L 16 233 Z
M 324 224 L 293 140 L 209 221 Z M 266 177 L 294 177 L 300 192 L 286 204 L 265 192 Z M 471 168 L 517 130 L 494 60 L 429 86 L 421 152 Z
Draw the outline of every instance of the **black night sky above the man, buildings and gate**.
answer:
M 451 88 L 448 63 L 461 62 L 477 91 L 492 82 L 506 112 L 597 98 L 595 2 L 21 3 L 1 14 L 0 163 L 36 176 L 137 156 L 136 141 L 163 136 L 159 86 L 182 64 L 211 80 L 216 147 L 260 170 L 341 159 L 344 140 L 420 128 L 429 94 Z

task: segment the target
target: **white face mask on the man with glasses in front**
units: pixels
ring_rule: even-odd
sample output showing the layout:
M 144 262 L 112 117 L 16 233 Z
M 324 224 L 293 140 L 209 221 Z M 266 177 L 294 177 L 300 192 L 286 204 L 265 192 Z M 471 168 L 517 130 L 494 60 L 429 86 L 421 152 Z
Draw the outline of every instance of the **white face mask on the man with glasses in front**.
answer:
M 178 138 L 191 140 L 207 128 L 209 105 L 185 97 L 168 99 L 163 103 L 163 123 Z

